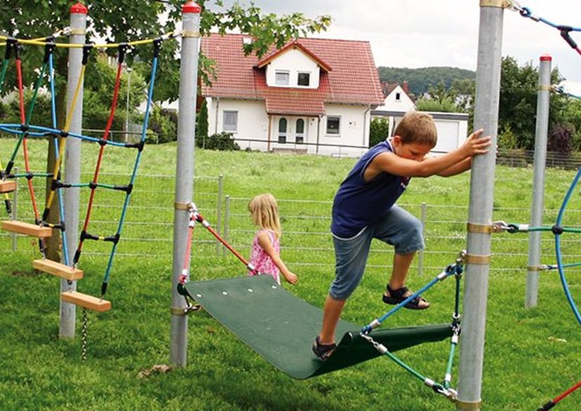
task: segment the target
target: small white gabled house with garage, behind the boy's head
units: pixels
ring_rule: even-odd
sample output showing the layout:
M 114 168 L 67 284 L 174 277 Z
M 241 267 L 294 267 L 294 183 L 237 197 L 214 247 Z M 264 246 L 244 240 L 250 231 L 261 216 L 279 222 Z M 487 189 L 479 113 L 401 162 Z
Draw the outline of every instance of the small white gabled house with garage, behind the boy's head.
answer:
M 415 110 L 415 104 L 409 97 L 407 82 L 403 86 L 389 83 L 389 87 L 383 86 L 387 91 L 383 105 L 372 110 L 372 118 L 382 117 L 389 123 L 389 132 L 394 133 L 401 121 L 403 114 Z M 440 113 L 429 112 L 438 129 L 438 144 L 432 149 L 432 153 L 447 153 L 466 140 L 468 132 L 468 114 L 465 113 Z

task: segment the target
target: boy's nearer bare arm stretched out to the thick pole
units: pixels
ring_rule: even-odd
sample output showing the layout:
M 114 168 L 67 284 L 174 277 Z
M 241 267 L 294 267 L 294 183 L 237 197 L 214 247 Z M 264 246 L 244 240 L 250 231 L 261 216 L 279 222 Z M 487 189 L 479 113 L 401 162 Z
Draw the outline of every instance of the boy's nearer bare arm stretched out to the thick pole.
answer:
M 440 174 L 476 154 L 485 154 L 488 151 L 487 147 L 490 145 L 490 136 L 480 137 L 482 133 L 483 130 L 477 130 L 469 135 L 464 144 L 458 149 L 442 156 L 425 159 L 424 161 L 415 161 L 386 152 L 376 156 L 368 168 L 377 170 L 378 173 L 384 171 L 385 173 L 405 175 L 407 177 L 429 177 L 430 175 Z M 462 166 L 458 167 L 461 168 Z M 452 170 L 454 171 L 455 168 Z M 458 172 L 460 173 L 460 171 Z M 372 172 L 372 174 L 375 173 Z

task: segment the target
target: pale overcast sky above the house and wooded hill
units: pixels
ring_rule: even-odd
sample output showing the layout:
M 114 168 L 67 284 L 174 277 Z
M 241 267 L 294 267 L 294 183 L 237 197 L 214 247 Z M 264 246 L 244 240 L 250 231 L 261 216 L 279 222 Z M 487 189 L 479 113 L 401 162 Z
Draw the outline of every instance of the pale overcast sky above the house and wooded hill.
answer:
M 316 36 L 369 41 L 377 66 L 476 69 L 479 0 L 253 2 L 263 12 L 330 15 L 330 28 Z M 556 25 L 581 27 L 581 0 L 523 0 L 520 4 Z M 571 36 L 581 47 L 581 32 Z M 544 53 L 552 56 L 553 67 L 559 68 L 561 76 L 581 86 L 581 55 L 561 39 L 559 30 L 505 10 L 502 55 L 516 58 L 521 65 L 532 61 L 536 66 Z M 577 84 L 569 90 L 581 94 Z

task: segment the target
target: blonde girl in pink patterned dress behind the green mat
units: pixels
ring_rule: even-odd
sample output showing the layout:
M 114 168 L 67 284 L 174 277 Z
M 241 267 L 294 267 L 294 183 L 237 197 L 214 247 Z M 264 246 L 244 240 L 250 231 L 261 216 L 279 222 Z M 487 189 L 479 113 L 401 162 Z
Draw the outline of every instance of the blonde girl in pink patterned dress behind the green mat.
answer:
M 254 224 L 260 228 L 252 241 L 251 263 L 260 273 L 273 276 L 279 284 L 280 273 L 286 281 L 296 284 L 298 277 L 288 271 L 280 257 L 281 222 L 274 196 L 272 194 L 255 196 L 248 203 L 248 211 Z

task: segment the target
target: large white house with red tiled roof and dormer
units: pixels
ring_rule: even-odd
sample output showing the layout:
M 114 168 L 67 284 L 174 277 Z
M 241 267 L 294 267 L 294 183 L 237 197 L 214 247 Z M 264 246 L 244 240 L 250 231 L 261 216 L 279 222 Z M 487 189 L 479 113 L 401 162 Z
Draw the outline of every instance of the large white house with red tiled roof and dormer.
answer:
M 383 104 L 367 41 L 296 39 L 262 58 L 244 34 L 211 34 L 202 52 L 217 78 L 202 85 L 208 133 L 232 133 L 243 149 L 360 156 L 371 110 Z

